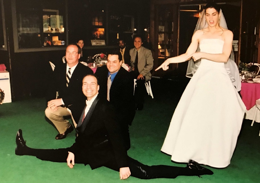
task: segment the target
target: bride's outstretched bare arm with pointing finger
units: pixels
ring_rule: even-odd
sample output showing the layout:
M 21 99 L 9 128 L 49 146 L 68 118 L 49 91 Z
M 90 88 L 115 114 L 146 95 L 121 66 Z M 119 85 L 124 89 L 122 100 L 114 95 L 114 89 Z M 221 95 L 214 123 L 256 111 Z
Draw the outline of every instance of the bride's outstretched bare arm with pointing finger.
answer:
M 196 52 L 196 50 L 198 48 L 200 34 L 201 33 L 199 31 L 197 31 L 193 34 L 193 36 L 191 38 L 191 44 L 189 45 L 189 48 L 187 49 L 186 53 L 181 54 L 176 57 L 168 58 L 167 60 L 164 61 L 164 63 L 162 63 L 162 65 L 160 65 L 155 70 L 158 70 L 160 68 L 162 68 L 163 70 L 167 70 L 168 65 L 170 63 L 180 63 L 180 62 L 185 62 L 185 61 L 189 60 L 190 57 L 188 57 L 188 56 L 190 56 L 192 53 Z

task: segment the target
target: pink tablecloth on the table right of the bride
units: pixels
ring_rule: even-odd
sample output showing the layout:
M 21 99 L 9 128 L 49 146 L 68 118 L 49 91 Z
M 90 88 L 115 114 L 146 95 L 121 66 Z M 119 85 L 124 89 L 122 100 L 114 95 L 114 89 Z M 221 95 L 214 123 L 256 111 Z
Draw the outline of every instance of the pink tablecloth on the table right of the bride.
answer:
M 241 83 L 241 95 L 246 109 L 249 110 L 260 99 L 260 83 Z

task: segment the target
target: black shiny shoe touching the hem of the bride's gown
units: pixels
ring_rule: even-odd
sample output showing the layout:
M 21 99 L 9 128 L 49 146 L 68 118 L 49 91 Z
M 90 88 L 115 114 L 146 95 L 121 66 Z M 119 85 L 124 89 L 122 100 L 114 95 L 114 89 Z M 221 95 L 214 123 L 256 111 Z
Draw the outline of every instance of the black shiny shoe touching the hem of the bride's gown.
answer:
M 196 175 L 199 177 L 200 177 L 200 175 L 212 175 L 213 174 L 213 172 L 211 170 L 200 166 L 199 163 L 194 160 L 189 160 L 189 162 L 187 164 L 187 168 L 189 168 L 191 170 L 191 173 L 193 175 Z

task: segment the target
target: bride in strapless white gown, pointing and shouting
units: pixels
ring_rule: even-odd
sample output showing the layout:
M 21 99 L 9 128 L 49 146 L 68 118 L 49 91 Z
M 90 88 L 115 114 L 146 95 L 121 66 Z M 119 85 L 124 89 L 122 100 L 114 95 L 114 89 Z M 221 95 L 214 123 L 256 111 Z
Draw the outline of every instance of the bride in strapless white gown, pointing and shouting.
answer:
M 174 111 L 161 151 L 175 162 L 192 159 L 224 168 L 236 147 L 245 105 L 225 68 L 233 33 L 219 25 L 223 14 L 218 5 L 207 4 L 203 14 L 206 26 L 193 34 L 186 53 L 167 59 L 156 69 L 167 70 L 170 63 L 201 59 L 199 67 L 195 62 L 191 69 L 193 76 Z M 198 45 L 200 51 L 196 52 Z

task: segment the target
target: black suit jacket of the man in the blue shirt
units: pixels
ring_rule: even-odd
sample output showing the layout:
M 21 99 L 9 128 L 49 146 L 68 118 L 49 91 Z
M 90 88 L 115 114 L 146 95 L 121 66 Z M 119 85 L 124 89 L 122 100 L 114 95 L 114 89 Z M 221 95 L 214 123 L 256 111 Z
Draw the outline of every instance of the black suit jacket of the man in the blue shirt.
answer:
M 95 75 L 99 81 L 100 97 L 107 98 L 108 68 L 98 67 Z M 110 88 L 110 102 L 115 106 L 121 122 L 131 125 L 135 117 L 135 103 L 133 99 L 133 78 L 129 72 L 121 67 Z

